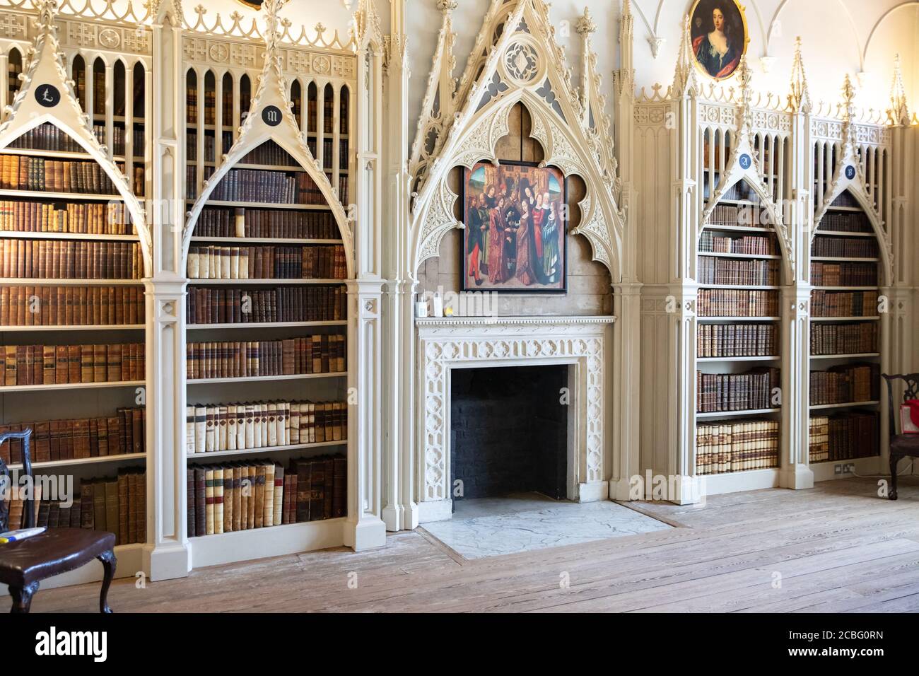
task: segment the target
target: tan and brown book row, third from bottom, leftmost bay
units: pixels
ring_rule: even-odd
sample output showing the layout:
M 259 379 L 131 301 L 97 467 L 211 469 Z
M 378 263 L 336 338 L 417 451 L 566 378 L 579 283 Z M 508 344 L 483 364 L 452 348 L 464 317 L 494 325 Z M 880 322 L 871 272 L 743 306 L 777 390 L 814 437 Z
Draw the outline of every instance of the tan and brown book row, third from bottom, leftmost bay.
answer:
M 144 345 L 6 345 L 0 349 L 4 384 L 119 383 L 146 377 Z

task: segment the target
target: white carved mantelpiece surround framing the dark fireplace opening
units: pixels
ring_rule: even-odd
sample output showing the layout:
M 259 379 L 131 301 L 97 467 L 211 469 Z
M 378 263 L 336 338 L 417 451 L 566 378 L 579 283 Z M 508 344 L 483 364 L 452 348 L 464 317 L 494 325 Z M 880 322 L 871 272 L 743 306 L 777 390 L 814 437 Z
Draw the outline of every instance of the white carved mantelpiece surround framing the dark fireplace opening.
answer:
M 571 411 L 568 433 L 568 497 L 609 497 L 606 466 L 607 350 L 616 317 L 417 318 L 420 521 L 449 519 L 450 373 L 453 369 L 568 365 Z M 561 393 L 560 393 L 561 396 Z

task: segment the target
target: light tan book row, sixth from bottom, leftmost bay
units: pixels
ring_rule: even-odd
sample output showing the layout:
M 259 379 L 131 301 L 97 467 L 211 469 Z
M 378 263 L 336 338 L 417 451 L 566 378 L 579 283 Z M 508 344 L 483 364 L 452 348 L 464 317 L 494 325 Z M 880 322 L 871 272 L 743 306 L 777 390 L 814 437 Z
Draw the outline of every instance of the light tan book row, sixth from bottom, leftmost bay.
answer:
M 0 230 L 17 233 L 134 235 L 124 202 L 0 201 Z

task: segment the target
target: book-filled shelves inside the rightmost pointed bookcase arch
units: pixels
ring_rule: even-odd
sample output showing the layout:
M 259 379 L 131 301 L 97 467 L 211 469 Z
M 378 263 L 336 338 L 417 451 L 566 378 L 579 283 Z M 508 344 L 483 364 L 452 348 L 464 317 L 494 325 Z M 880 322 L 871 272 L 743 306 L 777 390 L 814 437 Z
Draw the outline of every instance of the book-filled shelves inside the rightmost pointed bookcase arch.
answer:
M 815 468 L 814 480 L 823 481 L 843 476 L 832 471 L 834 463 L 879 453 L 879 347 L 884 341 L 878 315 L 856 315 L 873 311 L 879 295 L 879 245 L 868 214 L 856 206 L 850 193 L 843 192 L 817 223 L 814 235 L 811 306 L 820 305 L 814 312 L 837 311 L 846 316 L 811 315 L 808 399 L 850 398 L 809 406 L 809 459 Z M 868 284 L 859 284 L 865 281 Z M 826 458 L 830 460 L 824 462 Z M 871 466 L 868 471 L 877 468 Z

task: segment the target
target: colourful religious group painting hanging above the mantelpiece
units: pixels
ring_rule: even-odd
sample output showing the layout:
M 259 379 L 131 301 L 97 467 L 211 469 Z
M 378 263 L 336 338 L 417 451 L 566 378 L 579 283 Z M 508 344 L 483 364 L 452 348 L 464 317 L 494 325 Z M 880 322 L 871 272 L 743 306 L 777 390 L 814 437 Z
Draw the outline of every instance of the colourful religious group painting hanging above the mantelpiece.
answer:
M 565 179 L 559 169 L 480 162 L 463 180 L 463 291 L 565 292 Z

